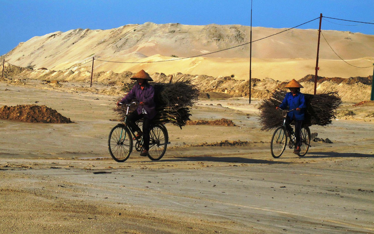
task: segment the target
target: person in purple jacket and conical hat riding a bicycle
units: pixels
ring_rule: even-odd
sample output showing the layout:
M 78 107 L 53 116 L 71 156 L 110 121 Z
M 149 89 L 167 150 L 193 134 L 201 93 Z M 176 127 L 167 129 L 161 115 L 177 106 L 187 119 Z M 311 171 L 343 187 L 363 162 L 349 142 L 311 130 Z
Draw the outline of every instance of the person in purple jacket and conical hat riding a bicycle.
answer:
M 150 124 L 156 115 L 155 88 L 148 83 L 153 79 L 144 70 L 136 73 L 130 79 L 136 80 L 136 84 L 121 101 L 117 102 L 117 105 L 130 103 L 134 98 L 139 102 L 137 109 L 128 116 L 127 124 L 131 130 L 137 132 L 135 136 L 137 139 L 143 136 L 144 150 L 140 153 L 140 156 L 147 156 L 150 142 Z M 141 118 L 143 118 L 143 132 L 135 123 Z

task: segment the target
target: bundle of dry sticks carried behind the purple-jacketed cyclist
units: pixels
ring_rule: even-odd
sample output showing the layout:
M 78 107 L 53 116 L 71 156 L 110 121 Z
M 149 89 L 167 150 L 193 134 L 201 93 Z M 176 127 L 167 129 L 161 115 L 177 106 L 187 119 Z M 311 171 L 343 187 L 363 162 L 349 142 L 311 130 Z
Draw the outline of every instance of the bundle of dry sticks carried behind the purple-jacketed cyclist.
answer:
M 199 90 L 191 80 L 181 80 L 174 83 L 151 83 L 155 88 L 156 116 L 155 123 L 172 123 L 182 128 L 190 120 L 190 109 L 197 102 Z M 130 91 L 132 86 L 128 86 Z M 120 99 L 119 99 L 120 100 Z M 129 113 L 136 106 L 131 106 Z M 114 111 L 121 117 L 126 116 L 127 107 L 115 107 Z

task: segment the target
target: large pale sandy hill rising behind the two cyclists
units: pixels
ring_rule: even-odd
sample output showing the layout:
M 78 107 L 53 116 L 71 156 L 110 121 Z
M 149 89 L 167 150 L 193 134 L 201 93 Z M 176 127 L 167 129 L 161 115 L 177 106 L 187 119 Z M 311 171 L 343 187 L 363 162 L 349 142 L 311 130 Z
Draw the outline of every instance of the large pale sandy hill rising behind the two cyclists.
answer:
M 285 29 L 253 28 L 253 40 Z M 322 31 L 335 52 L 355 66 L 374 63 L 374 35 Z M 317 30 L 293 29 L 258 40 L 252 46 L 253 78 L 301 79 L 315 73 Z M 213 77 L 249 78 L 250 27 L 240 25 L 189 26 L 180 24 L 126 25 L 110 30 L 75 29 L 33 37 L 19 43 L 1 59 L 11 64 L 91 72 L 122 73 L 145 69 L 150 74 L 192 74 Z M 242 45 L 242 46 L 238 46 Z M 372 67 L 357 68 L 340 60 L 323 37 L 320 45 L 319 75 L 324 77 L 367 77 Z M 224 50 L 238 46 L 234 49 Z M 201 54 L 224 50 L 205 56 Z M 185 57 L 197 56 L 183 59 Z M 178 59 L 176 61 L 158 62 Z M 127 63 L 113 63 L 117 61 Z M 141 62 L 141 63 L 138 63 Z

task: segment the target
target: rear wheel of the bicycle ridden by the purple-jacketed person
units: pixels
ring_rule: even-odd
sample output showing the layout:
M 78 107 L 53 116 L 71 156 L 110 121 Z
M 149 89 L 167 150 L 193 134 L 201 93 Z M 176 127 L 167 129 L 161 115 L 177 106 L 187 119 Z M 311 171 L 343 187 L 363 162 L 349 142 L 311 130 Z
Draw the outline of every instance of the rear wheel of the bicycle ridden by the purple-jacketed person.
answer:
M 153 125 L 150 129 L 150 146 L 148 157 L 151 160 L 159 160 L 165 154 L 168 146 L 168 131 L 162 125 Z

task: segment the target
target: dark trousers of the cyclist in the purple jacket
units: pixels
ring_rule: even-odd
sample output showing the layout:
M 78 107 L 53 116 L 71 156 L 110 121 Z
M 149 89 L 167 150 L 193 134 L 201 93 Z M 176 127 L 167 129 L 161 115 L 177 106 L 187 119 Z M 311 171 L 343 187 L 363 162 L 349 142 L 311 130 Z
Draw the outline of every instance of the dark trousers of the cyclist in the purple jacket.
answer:
M 126 122 L 133 132 L 140 132 L 140 128 L 135 122 L 140 120 L 141 118 L 143 118 L 143 147 L 144 150 L 149 150 L 149 130 L 151 120 L 148 118 L 148 114 L 138 114 L 138 112 L 135 110 L 127 117 Z

